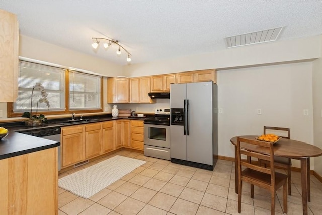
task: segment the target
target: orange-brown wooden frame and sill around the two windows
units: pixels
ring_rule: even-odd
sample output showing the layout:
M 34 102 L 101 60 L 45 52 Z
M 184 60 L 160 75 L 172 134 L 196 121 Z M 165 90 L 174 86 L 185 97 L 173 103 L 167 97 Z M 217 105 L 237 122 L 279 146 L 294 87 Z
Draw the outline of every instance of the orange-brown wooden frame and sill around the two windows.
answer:
M 99 109 L 86 109 L 86 110 L 69 110 L 69 73 L 74 71 L 69 71 L 69 69 L 65 70 L 65 110 L 62 111 L 43 111 L 41 110 L 41 114 L 47 116 L 53 116 L 53 115 L 62 115 L 62 114 L 71 114 L 73 113 L 101 113 L 103 112 L 103 77 L 100 77 L 101 79 L 101 88 L 100 88 L 100 108 Z M 77 73 L 83 73 L 80 71 L 76 71 Z M 87 74 L 87 73 L 84 73 Z M 90 74 L 93 75 L 93 74 Z M 98 76 L 98 75 L 97 75 Z M 21 117 L 23 112 L 13 112 L 14 103 L 8 102 L 7 103 L 7 118 L 13 118 L 13 117 Z

